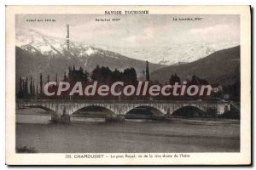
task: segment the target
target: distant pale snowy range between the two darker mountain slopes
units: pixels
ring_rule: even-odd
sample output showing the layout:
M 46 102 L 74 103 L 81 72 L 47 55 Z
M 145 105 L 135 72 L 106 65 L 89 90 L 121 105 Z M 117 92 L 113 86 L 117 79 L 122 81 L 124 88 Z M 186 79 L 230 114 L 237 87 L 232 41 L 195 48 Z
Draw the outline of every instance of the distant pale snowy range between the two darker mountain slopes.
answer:
M 239 42 L 187 42 L 177 44 L 161 44 L 148 48 L 116 48 L 96 45 L 102 49 L 129 56 L 133 59 L 148 60 L 160 65 L 177 65 L 178 62 L 190 63 L 202 59 L 209 54 L 225 48 L 233 48 Z

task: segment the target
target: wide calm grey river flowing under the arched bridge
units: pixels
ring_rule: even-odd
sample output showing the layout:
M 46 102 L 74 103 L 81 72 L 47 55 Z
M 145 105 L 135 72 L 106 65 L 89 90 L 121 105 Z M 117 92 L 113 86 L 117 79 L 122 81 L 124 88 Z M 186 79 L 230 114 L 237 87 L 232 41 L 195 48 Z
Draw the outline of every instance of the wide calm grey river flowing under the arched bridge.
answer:
M 47 111 L 16 112 L 16 147 L 39 153 L 239 152 L 240 122 L 234 120 L 135 119 L 105 122 L 100 117 L 50 123 Z

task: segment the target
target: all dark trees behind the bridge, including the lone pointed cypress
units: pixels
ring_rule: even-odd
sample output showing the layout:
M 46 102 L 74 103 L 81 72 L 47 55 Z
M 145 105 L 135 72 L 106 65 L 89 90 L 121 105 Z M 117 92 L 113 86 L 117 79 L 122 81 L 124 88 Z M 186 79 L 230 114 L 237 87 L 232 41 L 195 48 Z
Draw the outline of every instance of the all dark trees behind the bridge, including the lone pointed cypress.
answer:
M 146 62 L 146 71 L 143 71 L 144 74 L 144 81 L 148 81 L 149 84 L 160 84 L 160 82 L 153 82 L 150 80 L 149 77 L 149 67 L 148 61 Z M 47 75 L 47 82 L 49 82 L 49 75 Z M 98 82 L 102 84 L 111 84 L 113 82 L 124 82 L 125 84 L 131 84 L 135 87 L 137 86 L 138 79 L 137 79 L 137 71 L 131 67 L 126 68 L 123 71 L 119 71 L 118 69 L 111 70 L 108 66 L 99 66 L 96 65 L 96 68 L 93 69 L 90 73 L 88 71 L 84 71 L 82 67 L 76 69 L 75 66 L 68 67 L 68 73 L 64 72 L 64 77 L 58 78 L 58 75 L 55 74 L 55 82 L 70 82 L 74 84 L 75 82 L 82 82 L 84 85 L 90 84 L 90 82 Z M 181 84 L 180 77 L 177 74 L 172 74 L 168 84 L 174 85 L 175 83 Z M 199 77 L 193 76 L 191 81 L 188 82 L 188 85 L 207 85 L 209 84 L 207 80 L 201 79 Z M 58 86 L 58 85 L 57 85 Z M 40 74 L 40 81 L 39 86 L 38 82 L 35 81 L 30 77 L 30 81 L 26 77 L 22 79 L 20 77 L 20 87 L 17 93 L 18 99 L 46 99 L 47 96 L 44 95 L 44 82 L 43 82 L 43 75 Z M 53 87 L 53 89 L 57 89 L 57 87 Z M 62 97 L 68 98 L 69 96 Z M 73 98 L 79 98 L 74 96 Z M 162 99 L 163 97 L 155 97 L 155 99 Z M 55 96 L 57 99 L 57 96 Z M 143 97 L 144 99 L 144 97 Z M 165 98 L 166 99 L 166 98 Z

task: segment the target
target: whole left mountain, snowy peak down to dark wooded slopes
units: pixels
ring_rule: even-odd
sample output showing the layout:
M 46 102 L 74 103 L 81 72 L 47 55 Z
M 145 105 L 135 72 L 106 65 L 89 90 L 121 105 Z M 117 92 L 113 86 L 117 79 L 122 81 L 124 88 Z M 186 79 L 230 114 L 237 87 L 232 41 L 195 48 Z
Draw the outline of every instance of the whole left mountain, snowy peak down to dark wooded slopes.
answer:
M 96 65 L 108 66 L 112 70 L 134 67 L 139 77 L 143 75 L 146 62 L 91 47 L 83 42 L 70 42 L 70 48 L 67 50 L 65 39 L 48 37 L 32 29 L 16 31 L 16 77 L 32 76 L 37 79 L 42 73 L 44 77 L 49 74 L 51 78 L 55 78 L 58 73 L 62 78 L 64 71 L 72 65 L 77 69 L 81 66 L 89 72 Z M 149 63 L 149 67 L 151 71 L 155 71 L 163 65 Z

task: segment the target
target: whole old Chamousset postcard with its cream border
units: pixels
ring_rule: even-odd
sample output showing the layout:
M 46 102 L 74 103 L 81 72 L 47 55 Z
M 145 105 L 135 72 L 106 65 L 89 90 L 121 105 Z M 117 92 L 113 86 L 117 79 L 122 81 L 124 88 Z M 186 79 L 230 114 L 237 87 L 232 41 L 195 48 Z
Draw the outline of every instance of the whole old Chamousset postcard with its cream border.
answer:
M 101 11 L 12 15 L 14 154 L 168 164 L 243 153 L 244 16 Z

